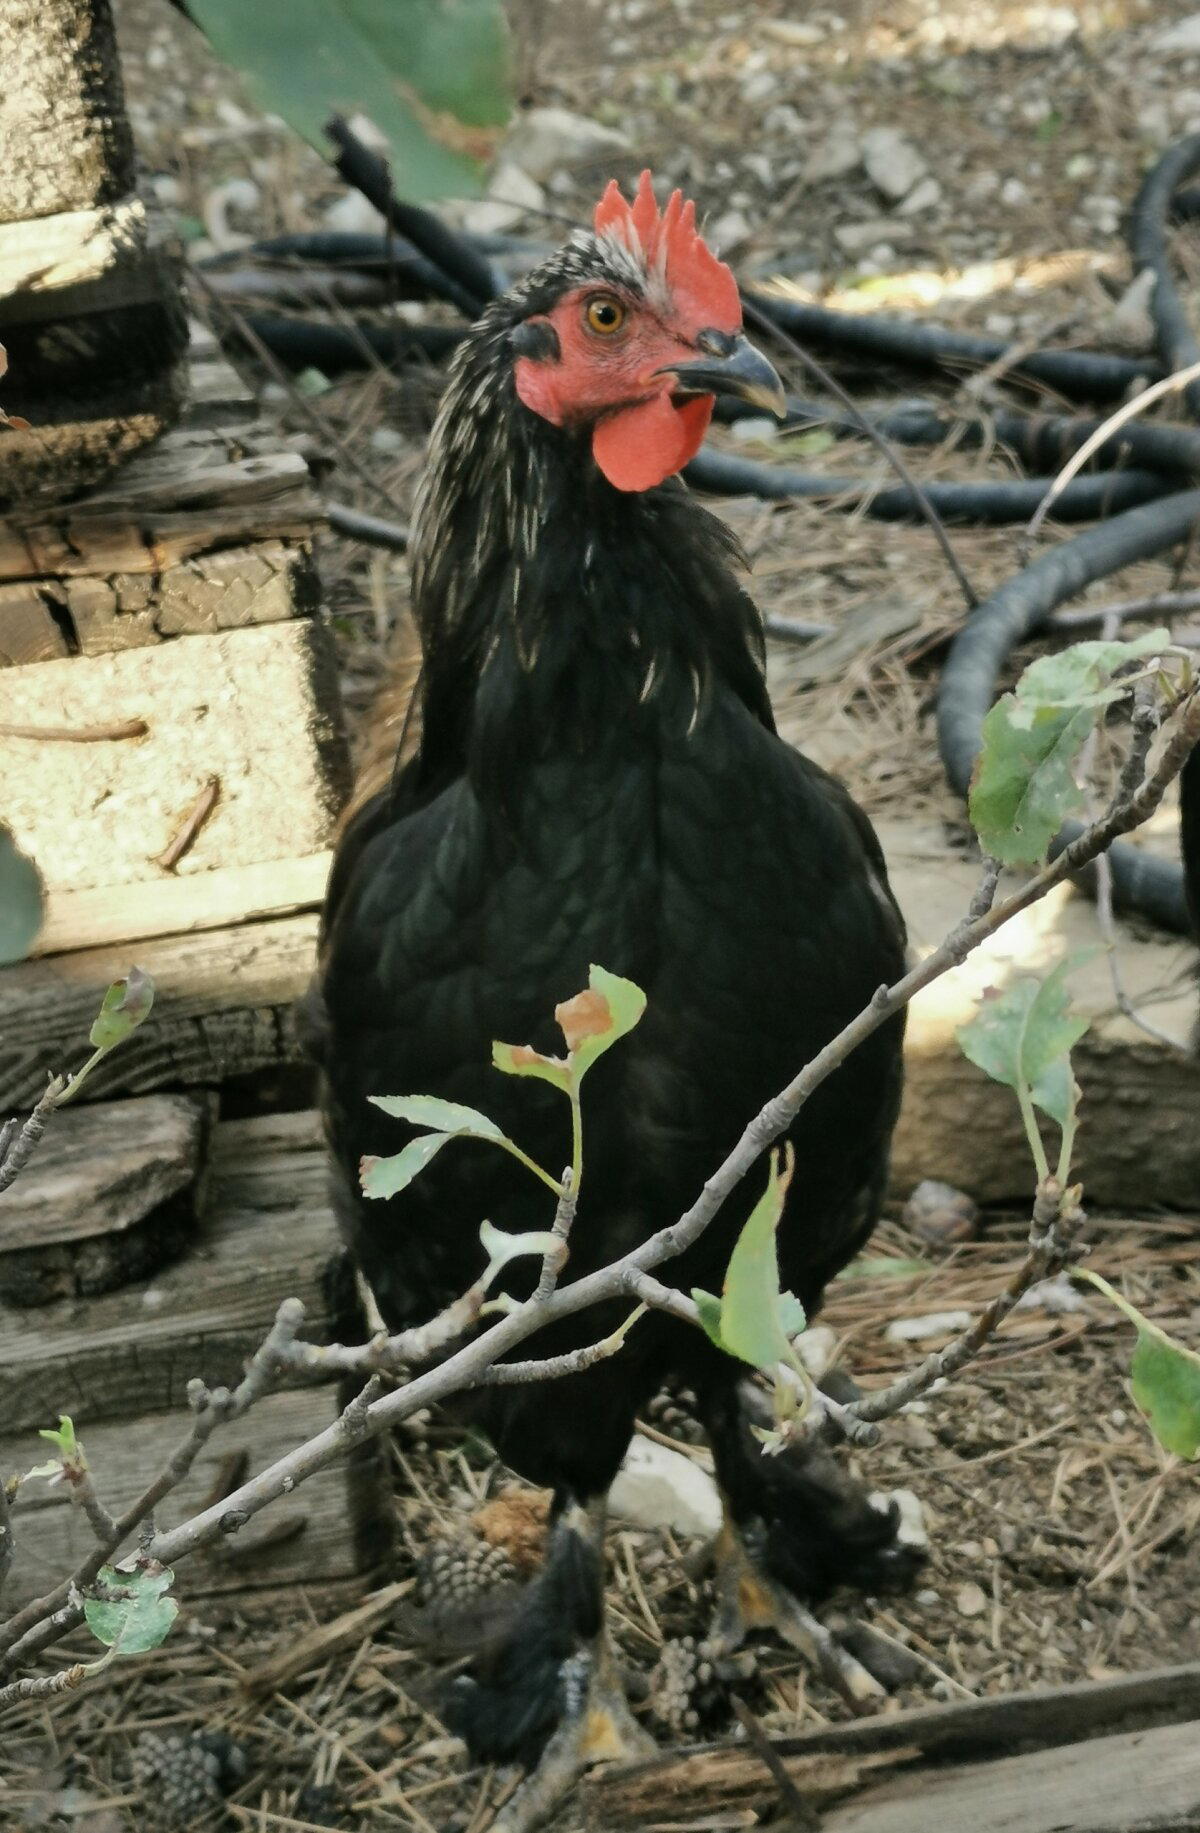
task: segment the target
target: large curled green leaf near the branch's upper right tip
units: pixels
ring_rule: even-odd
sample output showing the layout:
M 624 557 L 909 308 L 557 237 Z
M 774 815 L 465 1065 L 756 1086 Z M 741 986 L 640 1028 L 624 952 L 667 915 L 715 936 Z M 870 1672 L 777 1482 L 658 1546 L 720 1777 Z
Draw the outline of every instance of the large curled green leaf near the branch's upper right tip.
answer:
M 1097 711 L 1125 691 L 1110 684 L 1112 673 L 1169 642 L 1167 631 L 1149 631 L 1129 643 L 1074 643 L 1030 664 L 1015 693 L 997 700 L 969 796 L 987 852 L 1006 865 L 1046 856 L 1064 818 L 1085 805 L 1074 766 Z

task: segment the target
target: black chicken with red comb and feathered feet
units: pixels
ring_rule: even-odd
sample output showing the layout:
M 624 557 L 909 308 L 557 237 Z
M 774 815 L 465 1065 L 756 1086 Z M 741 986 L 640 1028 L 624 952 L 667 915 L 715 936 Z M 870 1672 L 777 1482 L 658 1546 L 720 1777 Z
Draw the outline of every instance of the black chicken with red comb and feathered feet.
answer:
M 392 1327 L 480 1272 L 482 1217 L 548 1219 L 526 1171 L 467 1142 L 399 1199 L 363 1201 L 359 1158 L 405 1138 L 370 1094 L 473 1103 L 566 1164 L 566 1103 L 493 1070 L 491 1041 L 561 1048 L 550 1014 L 590 962 L 638 981 L 645 1019 L 584 1091 L 583 1274 L 685 1210 L 762 1102 L 901 971 L 870 823 L 775 735 L 736 541 L 674 478 L 718 392 L 784 403 L 693 205 L 676 192 L 660 214 L 649 174 L 632 207 L 610 185 L 595 233 L 491 304 L 456 354 L 412 550 L 420 748 L 346 830 L 319 984 L 339 1206 Z M 791 1129 L 780 1270 L 810 1312 L 876 1219 L 901 1028 L 876 1032 Z M 674 1283 L 720 1289 L 764 1179 Z M 537 1353 L 627 1309 L 570 1320 Z M 738 1366 L 661 1314 L 584 1375 L 487 1389 L 471 1413 L 553 1488 L 555 1529 L 517 1626 L 458 1683 L 454 1721 L 480 1758 L 529 1758 L 562 1719 L 553 1782 L 636 1736 L 603 1655 L 603 1501 L 669 1375 L 700 1397 L 727 1503 L 727 1635 L 795 1635 L 793 1595 L 878 1587 L 905 1564 L 892 1514 L 828 1454 L 760 1454 Z M 526 1824 L 507 1815 L 498 1826 Z

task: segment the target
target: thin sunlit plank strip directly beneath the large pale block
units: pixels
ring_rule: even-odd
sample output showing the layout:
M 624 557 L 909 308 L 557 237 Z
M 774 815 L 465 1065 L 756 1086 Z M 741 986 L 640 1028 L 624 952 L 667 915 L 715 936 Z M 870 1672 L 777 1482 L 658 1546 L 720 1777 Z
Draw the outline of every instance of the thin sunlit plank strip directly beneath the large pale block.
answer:
M 324 851 L 310 852 L 304 860 L 165 876 L 148 885 L 51 891 L 33 953 L 57 955 L 104 942 L 220 929 L 224 924 L 319 909 L 332 858 Z

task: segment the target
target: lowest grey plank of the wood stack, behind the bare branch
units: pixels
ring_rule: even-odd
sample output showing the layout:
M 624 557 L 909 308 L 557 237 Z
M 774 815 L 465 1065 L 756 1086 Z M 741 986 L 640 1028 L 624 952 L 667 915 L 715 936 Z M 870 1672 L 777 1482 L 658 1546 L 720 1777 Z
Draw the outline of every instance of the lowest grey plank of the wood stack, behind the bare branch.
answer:
M 220 1499 L 231 1474 L 266 1468 L 333 1422 L 339 1399 L 330 1388 L 277 1393 L 245 1419 L 216 1432 L 183 1485 L 156 1510 L 172 1527 Z M 187 1435 L 185 1411 L 147 1413 L 88 1426 L 81 1433 L 97 1490 L 117 1512 L 145 1488 Z M 0 1472 L 29 1470 L 46 1450 L 37 1433 L 0 1439 Z M 377 1444 L 363 1444 L 311 1477 L 286 1503 L 266 1510 L 240 1534 L 180 1564 L 183 1598 L 256 1586 L 346 1578 L 387 1556 L 392 1510 Z M 59 1584 L 93 1545 L 82 1512 L 64 1485 L 22 1483 L 13 1507 L 15 1560 L 5 1606 L 18 1609 Z

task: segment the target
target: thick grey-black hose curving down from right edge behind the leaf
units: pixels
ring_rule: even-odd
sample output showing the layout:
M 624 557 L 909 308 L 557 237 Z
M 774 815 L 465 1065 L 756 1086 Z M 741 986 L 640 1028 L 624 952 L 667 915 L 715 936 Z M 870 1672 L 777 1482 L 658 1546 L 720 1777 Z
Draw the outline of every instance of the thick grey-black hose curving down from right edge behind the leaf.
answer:
M 1200 489 L 1129 510 L 1042 554 L 967 618 L 951 643 L 938 691 L 938 750 L 960 796 L 965 797 L 971 786 L 984 719 L 995 700 L 1000 669 L 1017 643 L 1035 636 L 1048 612 L 1085 585 L 1185 541 L 1196 519 Z M 1081 832 L 1079 821 L 1068 821 L 1053 851 Z M 1187 933 L 1184 880 L 1173 860 L 1156 860 L 1127 845 L 1112 847 L 1108 858 L 1116 907 L 1141 911 L 1165 929 Z

